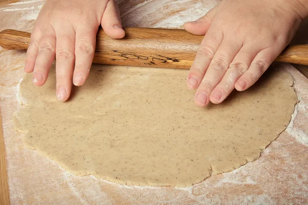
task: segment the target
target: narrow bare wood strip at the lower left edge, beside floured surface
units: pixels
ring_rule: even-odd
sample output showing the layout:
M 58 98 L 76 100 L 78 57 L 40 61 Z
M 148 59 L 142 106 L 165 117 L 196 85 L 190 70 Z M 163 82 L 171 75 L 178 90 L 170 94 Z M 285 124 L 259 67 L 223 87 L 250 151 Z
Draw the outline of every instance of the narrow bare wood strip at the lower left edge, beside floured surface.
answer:
M 0 113 L 0 204 L 10 204 L 8 175 L 6 169 L 6 154 Z

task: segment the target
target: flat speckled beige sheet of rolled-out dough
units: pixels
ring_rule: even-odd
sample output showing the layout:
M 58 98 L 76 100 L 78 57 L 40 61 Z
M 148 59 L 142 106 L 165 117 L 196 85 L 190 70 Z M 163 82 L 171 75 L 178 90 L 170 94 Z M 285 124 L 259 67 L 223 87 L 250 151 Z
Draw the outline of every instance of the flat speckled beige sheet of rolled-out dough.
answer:
M 293 78 L 273 70 L 220 105 L 195 106 L 187 71 L 94 65 L 61 103 L 55 73 L 24 77 L 15 129 L 25 144 L 75 175 L 126 185 L 186 187 L 254 161 L 291 119 Z

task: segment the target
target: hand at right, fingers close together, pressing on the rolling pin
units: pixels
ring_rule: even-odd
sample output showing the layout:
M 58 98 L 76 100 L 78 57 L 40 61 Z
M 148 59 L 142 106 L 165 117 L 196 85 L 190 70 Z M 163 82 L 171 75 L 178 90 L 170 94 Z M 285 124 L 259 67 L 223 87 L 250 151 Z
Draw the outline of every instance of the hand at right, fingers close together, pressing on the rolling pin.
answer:
M 195 103 L 219 104 L 234 89 L 251 87 L 290 43 L 308 15 L 307 5 L 307 0 L 225 0 L 184 24 L 192 34 L 205 34 L 187 77 L 187 86 L 197 89 Z

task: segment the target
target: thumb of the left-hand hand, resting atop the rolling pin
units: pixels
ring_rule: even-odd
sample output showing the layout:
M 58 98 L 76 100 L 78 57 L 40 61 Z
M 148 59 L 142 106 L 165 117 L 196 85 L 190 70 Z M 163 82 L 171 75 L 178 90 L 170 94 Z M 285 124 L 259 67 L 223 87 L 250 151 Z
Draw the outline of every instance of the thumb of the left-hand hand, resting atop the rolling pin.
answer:
M 122 29 L 120 11 L 114 0 L 108 1 L 101 24 L 105 33 L 111 38 L 123 38 L 125 36 L 125 31 Z

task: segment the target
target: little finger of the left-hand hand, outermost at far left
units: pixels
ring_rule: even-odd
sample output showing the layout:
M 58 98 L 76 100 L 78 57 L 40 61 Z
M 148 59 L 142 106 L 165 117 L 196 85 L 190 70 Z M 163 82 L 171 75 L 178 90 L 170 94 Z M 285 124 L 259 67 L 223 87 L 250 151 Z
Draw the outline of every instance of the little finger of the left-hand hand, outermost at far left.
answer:
M 31 73 L 34 70 L 35 60 L 38 53 L 38 46 L 40 45 L 42 33 L 39 29 L 34 28 L 31 33 L 31 40 L 26 54 L 25 72 Z

